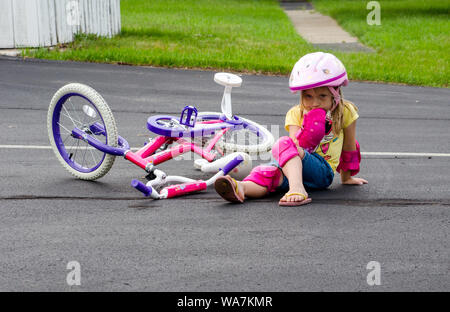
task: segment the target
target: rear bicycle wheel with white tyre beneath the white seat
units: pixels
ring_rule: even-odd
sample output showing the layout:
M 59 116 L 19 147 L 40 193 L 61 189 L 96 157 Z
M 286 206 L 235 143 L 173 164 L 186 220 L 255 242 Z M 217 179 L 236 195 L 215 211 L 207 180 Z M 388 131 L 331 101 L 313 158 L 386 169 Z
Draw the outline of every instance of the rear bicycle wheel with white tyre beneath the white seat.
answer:
M 199 120 L 220 119 L 222 113 L 201 112 L 198 114 Z M 244 152 L 248 154 L 265 153 L 272 149 L 274 138 L 272 133 L 262 125 L 250 119 L 242 118 L 244 128 L 228 130 L 219 141 L 216 147 L 223 150 L 224 153 Z

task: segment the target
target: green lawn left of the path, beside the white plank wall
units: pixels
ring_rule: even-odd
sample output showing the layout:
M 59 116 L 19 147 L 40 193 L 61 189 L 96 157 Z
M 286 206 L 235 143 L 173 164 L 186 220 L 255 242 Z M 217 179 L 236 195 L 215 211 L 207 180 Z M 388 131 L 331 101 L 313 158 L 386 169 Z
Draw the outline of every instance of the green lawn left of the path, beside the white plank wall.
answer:
M 122 0 L 122 33 L 79 36 L 40 58 L 287 73 L 313 51 L 274 0 Z

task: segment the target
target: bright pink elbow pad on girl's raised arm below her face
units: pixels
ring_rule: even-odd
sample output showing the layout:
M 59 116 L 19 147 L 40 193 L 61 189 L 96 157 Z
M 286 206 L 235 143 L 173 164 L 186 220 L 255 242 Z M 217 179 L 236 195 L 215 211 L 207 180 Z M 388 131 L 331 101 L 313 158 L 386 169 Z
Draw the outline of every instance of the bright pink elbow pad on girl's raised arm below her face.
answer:
M 327 112 L 322 108 L 310 110 L 303 118 L 303 125 L 295 135 L 298 145 L 312 153 L 325 136 Z

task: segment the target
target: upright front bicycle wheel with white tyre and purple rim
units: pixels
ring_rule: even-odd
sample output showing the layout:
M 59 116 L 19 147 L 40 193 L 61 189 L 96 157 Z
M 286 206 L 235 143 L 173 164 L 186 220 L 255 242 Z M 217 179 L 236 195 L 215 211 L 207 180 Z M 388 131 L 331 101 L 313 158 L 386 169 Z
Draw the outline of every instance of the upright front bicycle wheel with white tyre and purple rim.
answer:
M 93 124 L 104 131 L 93 130 Z M 71 83 L 53 96 L 47 115 L 50 144 L 59 162 L 75 177 L 96 180 L 111 169 L 115 156 L 74 138 L 78 127 L 104 144 L 117 146 L 117 127 L 112 112 L 100 94 L 89 86 Z

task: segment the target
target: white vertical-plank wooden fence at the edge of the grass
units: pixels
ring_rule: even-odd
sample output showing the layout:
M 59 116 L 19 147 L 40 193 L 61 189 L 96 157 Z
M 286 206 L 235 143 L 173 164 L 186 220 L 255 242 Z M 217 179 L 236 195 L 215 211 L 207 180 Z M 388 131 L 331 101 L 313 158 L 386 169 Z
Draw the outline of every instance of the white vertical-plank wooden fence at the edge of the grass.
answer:
M 120 0 L 0 0 L 0 48 L 43 47 L 76 33 L 120 33 Z

